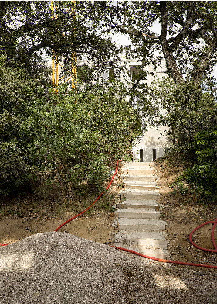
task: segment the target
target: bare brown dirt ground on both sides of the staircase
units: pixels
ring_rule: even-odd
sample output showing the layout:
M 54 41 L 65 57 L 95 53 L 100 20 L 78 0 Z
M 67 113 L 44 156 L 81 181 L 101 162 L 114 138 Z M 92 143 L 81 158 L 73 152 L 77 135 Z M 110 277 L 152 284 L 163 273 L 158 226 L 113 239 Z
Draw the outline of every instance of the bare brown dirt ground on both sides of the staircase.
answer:
M 169 188 L 169 185 L 179 172 L 166 171 L 161 164 L 157 164 L 155 170 L 156 174 L 161 174 L 159 181 L 161 200 L 159 204 L 161 218 L 167 223 L 168 259 L 189 263 L 216 264 L 216 254 L 193 247 L 189 242 L 189 234 L 200 224 L 215 221 L 217 207 L 205 204 L 194 205 L 191 202 L 186 204 L 180 198 L 178 200 L 170 194 L 172 189 Z M 118 173 L 121 174 L 121 171 L 119 170 Z M 120 199 L 121 187 L 119 185 L 120 177 L 117 176 L 110 188 L 110 193 L 114 194 L 114 204 Z M 73 215 L 73 213 L 66 212 L 61 217 L 55 217 L 52 214 L 43 217 L 34 213 L 29 213 L 25 217 L 2 216 L 0 217 L 0 243 L 12 244 L 32 234 L 54 231 Z M 118 232 L 117 228 L 112 226 L 113 222 L 114 213 L 96 209 L 93 213 L 84 214 L 66 224 L 60 228 L 59 232 L 107 244 L 112 242 L 114 235 Z M 214 249 L 211 231 L 212 224 L 205 225 L 193 234 L 192 240 L 200 247 Z M 216 231 L 215 241 L 217 244 Z M 181 267 L 188 268 L 189 266 Z M 198 269 L 201 271 L 201 268 Z

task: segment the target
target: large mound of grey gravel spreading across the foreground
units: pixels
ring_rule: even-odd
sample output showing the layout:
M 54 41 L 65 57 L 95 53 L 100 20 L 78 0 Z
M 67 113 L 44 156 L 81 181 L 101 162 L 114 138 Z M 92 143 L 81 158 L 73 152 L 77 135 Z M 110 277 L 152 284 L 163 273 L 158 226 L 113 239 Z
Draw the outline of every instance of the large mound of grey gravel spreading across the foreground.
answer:
M 217 271 L 196 271 L 205 273 L 168 272 L 107 245 L 38 233 L 0 248 L 0 303 L 216 304 Z

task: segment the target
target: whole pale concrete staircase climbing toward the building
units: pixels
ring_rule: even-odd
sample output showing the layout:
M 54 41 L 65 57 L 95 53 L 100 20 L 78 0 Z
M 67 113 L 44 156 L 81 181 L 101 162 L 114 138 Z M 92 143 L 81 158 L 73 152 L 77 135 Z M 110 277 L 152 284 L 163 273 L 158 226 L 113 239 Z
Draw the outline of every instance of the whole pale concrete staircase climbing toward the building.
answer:
M 114 245 L 145 254 L 166 258 L 165 222 L 160 219 L 160 199 L 152 163 L 124 162 L 121 175 L 125 190 L 117 204 L 115 216 L 120 232 Z

